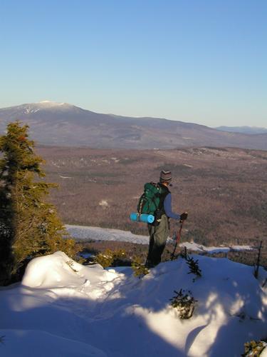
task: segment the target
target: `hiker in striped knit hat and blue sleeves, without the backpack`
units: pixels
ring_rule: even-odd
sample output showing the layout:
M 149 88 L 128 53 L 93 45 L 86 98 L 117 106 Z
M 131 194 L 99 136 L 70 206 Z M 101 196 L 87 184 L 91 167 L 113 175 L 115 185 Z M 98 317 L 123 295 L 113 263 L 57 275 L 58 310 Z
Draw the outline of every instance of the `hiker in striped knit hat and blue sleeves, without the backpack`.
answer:
M 172 212 L 172 195 L 168 188 L 171 181 L 172 173 L 170 171 L 161 171 L 158 183 L 162 191 L 158 210 L 159 214 L 155 217 L 155 223 L 147 224 L 148 231 L 150 232 L 150 246 L 146 261 L 148 268 L 156 266 L 161 261 L 162 253 L 169 235 L 169 218 L 174 218 L 179 221 L 187 219 L 187 212 L 181 215 Z

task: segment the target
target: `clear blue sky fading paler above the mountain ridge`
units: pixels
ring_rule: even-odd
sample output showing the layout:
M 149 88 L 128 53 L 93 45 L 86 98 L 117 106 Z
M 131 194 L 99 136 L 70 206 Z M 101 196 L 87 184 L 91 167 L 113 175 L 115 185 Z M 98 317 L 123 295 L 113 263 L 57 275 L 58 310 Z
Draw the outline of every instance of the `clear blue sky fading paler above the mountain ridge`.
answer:
M 0 107 L 267 127 L 266 0 L 1 0 Z

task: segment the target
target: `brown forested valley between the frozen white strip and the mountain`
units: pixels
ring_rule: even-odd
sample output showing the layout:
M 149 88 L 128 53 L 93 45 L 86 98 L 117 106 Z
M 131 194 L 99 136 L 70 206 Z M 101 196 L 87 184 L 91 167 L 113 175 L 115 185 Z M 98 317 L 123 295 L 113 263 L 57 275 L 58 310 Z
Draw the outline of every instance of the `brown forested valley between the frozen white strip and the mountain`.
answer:
M 173 175 L 173 209 L 189 211 L 184 238 L 217 246 L 253 245 L 267 230 L 267 152 L 244 149 L 120 151 L 39 148 L 64 223 L 118 228 L 147 235 L 131 223 L 147 181 Z M 172 221 L 172 230 L 175 228 Z

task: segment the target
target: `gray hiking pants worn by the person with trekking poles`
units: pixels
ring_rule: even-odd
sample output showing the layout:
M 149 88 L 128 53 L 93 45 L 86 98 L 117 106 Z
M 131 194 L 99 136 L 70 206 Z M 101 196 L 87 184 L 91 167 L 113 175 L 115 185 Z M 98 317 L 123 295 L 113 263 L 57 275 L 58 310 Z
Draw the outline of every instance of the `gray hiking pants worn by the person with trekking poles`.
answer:
M 156 266 L 162 260 L 162 253 L 169 236 L 169 220 L 165 214 L 162 215 L 158 226 L 148 224 L 150 232 L 150 247 L 147 255 L 147 265 Z

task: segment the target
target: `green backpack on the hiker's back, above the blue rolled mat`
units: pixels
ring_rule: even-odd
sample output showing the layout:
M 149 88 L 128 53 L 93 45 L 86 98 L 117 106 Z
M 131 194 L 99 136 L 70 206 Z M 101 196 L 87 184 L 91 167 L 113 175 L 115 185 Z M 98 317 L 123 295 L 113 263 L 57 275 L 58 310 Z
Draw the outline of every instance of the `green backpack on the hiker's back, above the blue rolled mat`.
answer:
M 137 212 L 139 214 L 152 214 L 153 216 L 161 216 L 160 213 L 163 203 L 163 190 L 157 183 L 148 182 L 145 183 L 144 193 L 139 199 L 137 205 Z

